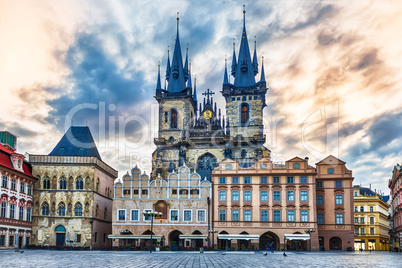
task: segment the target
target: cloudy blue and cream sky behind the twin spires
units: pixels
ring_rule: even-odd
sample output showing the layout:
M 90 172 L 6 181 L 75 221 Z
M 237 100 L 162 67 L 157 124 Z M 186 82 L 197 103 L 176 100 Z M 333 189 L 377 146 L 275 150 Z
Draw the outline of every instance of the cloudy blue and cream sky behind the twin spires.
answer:
M 120 177 L 135 163 L 149 172 L 157 66 L 163 74 L 176 13 L 198 93 L 220 95 L 233 38 L 239 48 L 243 4 L 270 88 L 264 121 L 272 160 L 308 156 L 314 164 L 333 154 L 355 184 L 388 192 L 402 162 L 397 0 L 1 0 L 0 129 L 18 135 L 19 152 L 48 154 L 71 124 L 88 125 Z

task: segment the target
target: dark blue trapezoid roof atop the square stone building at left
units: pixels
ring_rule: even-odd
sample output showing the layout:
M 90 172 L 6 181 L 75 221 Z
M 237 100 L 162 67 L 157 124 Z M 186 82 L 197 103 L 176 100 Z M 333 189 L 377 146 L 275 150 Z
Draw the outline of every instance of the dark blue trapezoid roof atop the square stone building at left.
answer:
M 89 127 L 70 127 L 49 155 L 95 156 L 102 160 Z

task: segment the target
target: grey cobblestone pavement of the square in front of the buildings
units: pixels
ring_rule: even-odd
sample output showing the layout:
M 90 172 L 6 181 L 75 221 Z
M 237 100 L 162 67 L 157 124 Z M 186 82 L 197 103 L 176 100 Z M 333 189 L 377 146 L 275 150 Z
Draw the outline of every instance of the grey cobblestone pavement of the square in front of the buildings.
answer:
M 131 252 L 0 251 L 0 267 L 402 267 L 402 254 L 389 252 Z

